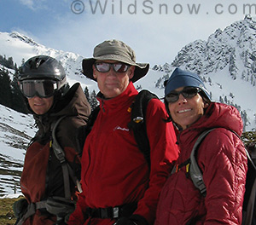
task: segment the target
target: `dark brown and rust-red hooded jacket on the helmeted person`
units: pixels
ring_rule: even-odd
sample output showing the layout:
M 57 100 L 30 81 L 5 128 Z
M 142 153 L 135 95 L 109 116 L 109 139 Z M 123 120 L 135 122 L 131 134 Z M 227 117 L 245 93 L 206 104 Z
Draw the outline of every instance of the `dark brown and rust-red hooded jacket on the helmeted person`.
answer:
M 80 126 L 86 124 L 90 115 L 90 105 L 79 84 L 74 84 L 67 94 L 56 102 L 49 114 L 34 115 L 39 130 L 26 150 L 20 178 L 21 191 L 29 204 L 47 199 L 49 196 L 64 197 L 61 163 L 55 158 L 54 153 L 49 153 L 50 124 L 63 115 L 67 117 L 58 125 L 56 137 L 66 154 L 67 161 L 74 169 L 76 164 L 80 164 L 76 132 Z M 73 182 L 71 189 L 75 189 Z M 36 214 L 27 218 L 23 224 L 49 225 L 55 224 L 55 221 L 56 216 L 44 210 L 36 211 Z

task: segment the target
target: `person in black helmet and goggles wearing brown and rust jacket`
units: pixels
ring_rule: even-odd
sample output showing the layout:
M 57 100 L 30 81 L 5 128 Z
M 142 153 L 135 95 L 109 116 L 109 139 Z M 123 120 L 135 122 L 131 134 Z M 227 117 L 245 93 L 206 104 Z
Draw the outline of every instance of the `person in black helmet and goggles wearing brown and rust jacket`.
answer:
M 80 171 L 76 134 L 87 123 L 90 105 L 80 84 L 68 89 L 64 68 L 46 55 L 27 60 L 18 83 L 38 131 L 26 150 L 20 178 L 26 199 L 14 204 L 16 224 L 65 224 Z

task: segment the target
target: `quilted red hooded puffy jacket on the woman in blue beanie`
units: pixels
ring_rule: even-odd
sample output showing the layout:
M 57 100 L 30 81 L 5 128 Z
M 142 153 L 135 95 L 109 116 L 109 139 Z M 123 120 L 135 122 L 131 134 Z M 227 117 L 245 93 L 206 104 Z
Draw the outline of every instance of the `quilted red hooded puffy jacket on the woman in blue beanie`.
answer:
M 178 138 L 177 164 L 189 159 L 197 137 L 213 127 L 220 128 L 202 141 L 197 155 L 207 187 L 206 198 L 186 177 L 183 167 L 168 178 L 161 191 L 155 225 L 241 224 L 247 156 L 241 140 L 230 131 L 241 136 L 241 116 L 235 107 L 211 103 L 204 116 L 183 130 Z

